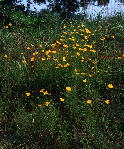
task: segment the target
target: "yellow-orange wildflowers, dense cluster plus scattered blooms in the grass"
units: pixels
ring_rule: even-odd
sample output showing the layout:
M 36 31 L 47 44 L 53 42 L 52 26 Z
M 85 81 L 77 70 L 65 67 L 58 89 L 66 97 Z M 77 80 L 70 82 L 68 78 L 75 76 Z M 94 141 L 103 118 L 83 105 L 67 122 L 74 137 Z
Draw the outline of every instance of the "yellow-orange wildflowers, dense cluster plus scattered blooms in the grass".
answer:
M 10 23 L 8 26 L 12 26 L 12 24 Z M 112 36 L 112 38 L 115 37 Z M 105 39 L 101 38 L 101 40 Z M 87 88 L 86 94 L 88 94 L 92 80 L 101 73 L 101 70 L 97 66 L 99 61 L 95 44 L 94 33 L 89 28 L 83 24 L 76 27 L 70 23 L 69 25 L 63 26 L 63 31 L 59 39 L 49 47 L 45 47 L 44 43 L 39 45 L 31 44 L 25 47 L 25 51 L 20 53 L 20 61 L 18 61 L 17 65 L 20 67 L 24 65 L 27 69 L 33 66 L 35 70 L 35 66 L 40 63 L 46 70 L 49 68 L 48 70 L 60 70 L 64 73 L 70 69 L 73 78 L 80 79 L 84 87 Z M 8 55 L 5 54 L 3 57 L 7 59 Z M 123 57 L 122 55 L 121 58 Z M 113 89 L 115 86 L 108 84 L 107 87 Z M 65 90 L 68 93 L 73 91 L 69 86 Z M 49 96 L 52 95 L 45 89 L 41 89 L 39 93 Z M 26 92 L 25 94 L 27 97 L 31 96 L 30 92 Z M 66 100 L 64 96 L 58 98 L 61 102 Z M 44 104 L 48 106 L 51 101 L 46 101 Z M 92 102 L 93 100 L 91 99 L 86 100 L 88 104 Z M 106 99 L 105 103 L 109 104 L 110 100 Z M 38 104 L 37 106 L 41 107 L 42 104 Z

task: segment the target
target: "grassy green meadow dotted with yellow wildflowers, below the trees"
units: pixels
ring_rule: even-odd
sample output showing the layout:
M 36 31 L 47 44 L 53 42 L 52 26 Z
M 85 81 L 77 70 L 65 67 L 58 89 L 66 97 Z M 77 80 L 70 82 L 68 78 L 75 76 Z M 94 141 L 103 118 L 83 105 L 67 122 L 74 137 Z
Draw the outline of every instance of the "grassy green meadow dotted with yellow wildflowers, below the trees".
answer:
M 124 18 L 13 12 L 0 22 L 0 147 L 123 147 Z

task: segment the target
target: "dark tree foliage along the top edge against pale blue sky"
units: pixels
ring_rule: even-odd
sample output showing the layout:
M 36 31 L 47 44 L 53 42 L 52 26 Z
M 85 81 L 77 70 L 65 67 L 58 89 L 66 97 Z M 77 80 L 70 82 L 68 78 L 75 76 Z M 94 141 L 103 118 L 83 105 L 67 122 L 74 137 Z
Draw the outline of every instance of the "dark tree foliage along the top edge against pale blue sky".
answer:
M 21 2 L 22 0 L 1 0 L 0 1 L 0 18 L 1 20 L 4 18 L 9 19 L 11 11 L 21 11 L 23 13 L 29 13 L 31 1 L 26 0 L 27 9 L 25 10 L 25 6 L 20 4 L 17 5 L 17 2 Z M 48 10 L 50 12 L 57 12 L 61 14 L 61 16 L 67 17 L 71 16 L 74 12 L 76 12 L 80 7 L 87 7 L 90 2 L 98 2 L 98 5 L 107 5 L 109 0 L 33 0 L 33 2 L 37 4 L 45 4 L 49 2 Z M 123 2 L 123 0 L 120 0 Z M 7 18 L 8 17 L 8 18 Z

